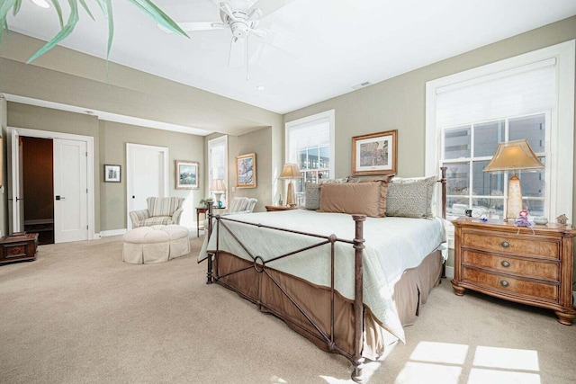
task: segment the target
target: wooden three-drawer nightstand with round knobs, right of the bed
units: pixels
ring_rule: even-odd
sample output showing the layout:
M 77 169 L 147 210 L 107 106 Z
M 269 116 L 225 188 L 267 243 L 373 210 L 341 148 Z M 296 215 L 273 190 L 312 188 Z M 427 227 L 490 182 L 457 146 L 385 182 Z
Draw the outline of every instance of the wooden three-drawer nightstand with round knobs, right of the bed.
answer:
M 498 220 L 460 218 L 455 226 L 455 294 L 466 288 L 554 310 L 572 325 L 573 239 L 576 230 L 547 224 L 516 227 Z

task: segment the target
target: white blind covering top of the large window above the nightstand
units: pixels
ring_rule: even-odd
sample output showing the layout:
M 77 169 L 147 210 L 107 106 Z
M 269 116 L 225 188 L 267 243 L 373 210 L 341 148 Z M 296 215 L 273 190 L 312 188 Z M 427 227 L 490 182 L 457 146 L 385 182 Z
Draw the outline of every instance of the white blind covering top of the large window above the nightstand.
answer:
M 547 58 L 437 89 L 437 126 L 551 111 L 556 104 L 556 59 Z

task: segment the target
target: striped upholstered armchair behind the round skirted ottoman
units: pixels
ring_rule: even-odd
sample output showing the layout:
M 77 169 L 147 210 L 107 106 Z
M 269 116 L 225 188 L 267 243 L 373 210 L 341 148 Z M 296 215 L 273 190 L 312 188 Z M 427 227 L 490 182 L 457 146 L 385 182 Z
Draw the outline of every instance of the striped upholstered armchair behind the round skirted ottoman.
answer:
M 130 211 L 132 228 L 155 225 L 180 224 L 182 215 L 182 197 L 148 197 L 147 210 Z

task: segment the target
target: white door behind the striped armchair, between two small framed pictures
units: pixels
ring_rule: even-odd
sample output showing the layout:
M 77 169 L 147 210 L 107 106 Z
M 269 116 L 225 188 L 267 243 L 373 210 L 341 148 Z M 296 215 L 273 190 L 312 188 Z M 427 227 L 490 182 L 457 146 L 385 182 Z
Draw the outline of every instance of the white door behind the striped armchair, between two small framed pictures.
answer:
M 148 208 L 150 196 L 168 196 L 168 148 L 126 144 L 127 225 L 132 228 L 130 210 Z

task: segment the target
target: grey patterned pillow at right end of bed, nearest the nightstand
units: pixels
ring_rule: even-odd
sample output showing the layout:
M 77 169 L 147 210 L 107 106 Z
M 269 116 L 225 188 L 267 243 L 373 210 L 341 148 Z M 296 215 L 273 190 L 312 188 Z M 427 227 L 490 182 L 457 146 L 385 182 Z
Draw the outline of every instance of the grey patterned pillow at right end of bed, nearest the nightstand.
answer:
M 435 176 L 394 177 L 388 183 L 386 215 L 434 218 L 432 198 L 436 183 Z

